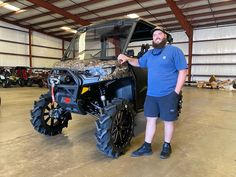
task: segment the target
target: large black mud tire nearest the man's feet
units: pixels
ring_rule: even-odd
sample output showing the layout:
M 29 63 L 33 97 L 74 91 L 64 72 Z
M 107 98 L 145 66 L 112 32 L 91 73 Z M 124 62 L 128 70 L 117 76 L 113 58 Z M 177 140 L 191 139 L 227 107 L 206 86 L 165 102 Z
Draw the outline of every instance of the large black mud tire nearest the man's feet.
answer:
M 114 99 L 96 121 L 97 148 L 106 156 L 117 158 L 125 153 L 133 132 L 133 105 L 123 99 Z

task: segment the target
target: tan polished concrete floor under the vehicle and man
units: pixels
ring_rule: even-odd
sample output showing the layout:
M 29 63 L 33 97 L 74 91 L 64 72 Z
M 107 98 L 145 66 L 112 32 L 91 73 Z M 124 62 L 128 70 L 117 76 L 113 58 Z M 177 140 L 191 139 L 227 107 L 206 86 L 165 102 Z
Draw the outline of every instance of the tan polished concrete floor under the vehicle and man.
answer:
M 91 116 L 73 115 L 61 135 L 37 133 L 30 124 L 29 110 L 33 100 L 46 91 L 0 88 L 1 177 L 236 177 L 236 92 L 185 87 L 173 153 L 161 160 L 161 122 L 153 142 L 154 154 L 130 157 L 143 142 L 143 113 L 137 115 L 131 147 L 118 159 L 97 151 Z

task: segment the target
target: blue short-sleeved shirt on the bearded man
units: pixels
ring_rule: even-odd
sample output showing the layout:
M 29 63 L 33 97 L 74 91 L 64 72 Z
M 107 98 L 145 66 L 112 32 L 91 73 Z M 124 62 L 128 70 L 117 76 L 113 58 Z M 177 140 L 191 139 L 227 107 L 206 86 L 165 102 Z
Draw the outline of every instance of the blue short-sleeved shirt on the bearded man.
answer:
M 175 90 L 178 71 L 187 69 L 183 52 L 175 46 L 151 49 L 139 58 L 139 65 L 148 70 L 149 96 L 165 96 Z

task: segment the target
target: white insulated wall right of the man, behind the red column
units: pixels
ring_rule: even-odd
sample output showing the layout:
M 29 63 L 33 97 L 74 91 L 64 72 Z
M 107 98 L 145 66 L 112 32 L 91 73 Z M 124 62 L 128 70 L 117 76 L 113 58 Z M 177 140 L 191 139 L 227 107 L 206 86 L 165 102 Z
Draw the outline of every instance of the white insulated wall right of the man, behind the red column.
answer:
M 188 38 L 173 33 L 174 45 L 180 47 L 188 61 Z M 183 38 L 181 38 L 183 37 Z M 236 26 L 198 29 L 193 32 L 192 81 L 236 78 Z

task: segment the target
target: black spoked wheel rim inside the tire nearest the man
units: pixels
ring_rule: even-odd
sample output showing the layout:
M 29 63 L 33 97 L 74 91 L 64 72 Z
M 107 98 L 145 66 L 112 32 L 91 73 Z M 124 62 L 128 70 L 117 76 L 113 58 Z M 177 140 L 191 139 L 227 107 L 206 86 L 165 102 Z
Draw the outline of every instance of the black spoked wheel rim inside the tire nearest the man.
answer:
M 112 123 L 111 138 L 116 149 L 122 149 L 133 136 L 133 117 L 125 108 L 117 112 Z

